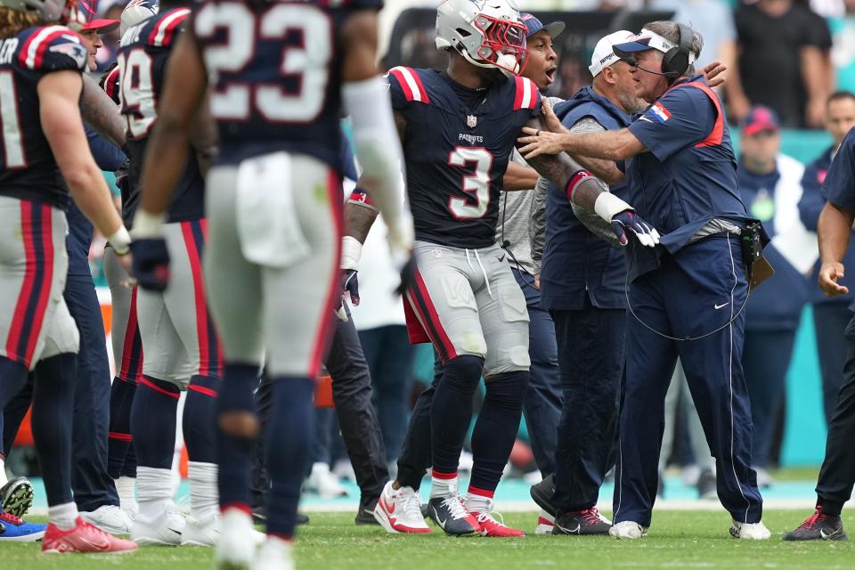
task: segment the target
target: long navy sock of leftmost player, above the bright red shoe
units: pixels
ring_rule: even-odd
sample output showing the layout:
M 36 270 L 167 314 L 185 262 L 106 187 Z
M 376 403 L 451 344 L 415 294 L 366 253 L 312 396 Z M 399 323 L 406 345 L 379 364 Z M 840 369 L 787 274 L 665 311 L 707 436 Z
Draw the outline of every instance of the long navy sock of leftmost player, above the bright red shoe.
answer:
M 77 382 L 77 354 L 59 354 L 36 365 L 33 384 L 33 439 L 45 481 L 48 506 L 71 497 L 71 425 Z M 73 503 L 72 503 L 73 504 Z

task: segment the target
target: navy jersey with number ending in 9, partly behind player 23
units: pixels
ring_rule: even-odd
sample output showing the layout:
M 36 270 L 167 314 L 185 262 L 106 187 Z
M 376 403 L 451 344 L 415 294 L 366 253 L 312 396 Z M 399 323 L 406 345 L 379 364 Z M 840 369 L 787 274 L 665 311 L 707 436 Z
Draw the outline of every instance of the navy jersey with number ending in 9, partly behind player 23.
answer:
M 127 147 L 131 153 L 128 181 L 122 193 L 122 217 L 126 224 L 134 218 L 139 203 L 142 165 L 151 129 L 158 119 L 158 100 L 169 53 L 189 15 L 189 8 L 160 12 L 126 29 L 118 48 L 118 98 L 127 123 Z M 115 75 L 107 77 L 104 88 L 108 94 L 117 91 L 115 82 Z M 205 181 L 199 172 L 196 153 L 191 149 L 175 186 L 167 220 L 183 222 L 205 216 L 204 199 Z

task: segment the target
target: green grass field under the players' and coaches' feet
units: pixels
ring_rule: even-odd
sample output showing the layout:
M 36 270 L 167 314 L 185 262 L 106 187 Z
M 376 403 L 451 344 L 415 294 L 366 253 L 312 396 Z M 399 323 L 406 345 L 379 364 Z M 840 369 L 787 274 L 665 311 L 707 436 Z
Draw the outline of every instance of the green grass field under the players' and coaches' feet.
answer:
M 722 512 L 663 511 L 655 514 L 647 538 L 619 542 L 610 537 L 527 536 L 496 540 L 481 537 L 452 539 L 435 532 L 428 536 L 391 536 L 379 526 L 355 526 L 351 513 L 312 513 L 300 527 L 298 568 L 395 567 L 418 570 L 451 568 L 834 568 L 855 567 L 855 543 L 782 542 L 808 513 L 769 511 L 764 517 L 772 531 L 767 542 L 730 538 L 729 517 Z M 531 529 L 535 513 L 513 513 L 510 525 Z M 855 515 L 844 518 L 855 529 Z M 29 570 L 61 568 L 89 570 L 156 568 L 183 570 L 211 567 L 211 550 L 202 548 L 144 548 L 126 555 L 42 555 L 40 545 L 0 544 L 0 568 Z

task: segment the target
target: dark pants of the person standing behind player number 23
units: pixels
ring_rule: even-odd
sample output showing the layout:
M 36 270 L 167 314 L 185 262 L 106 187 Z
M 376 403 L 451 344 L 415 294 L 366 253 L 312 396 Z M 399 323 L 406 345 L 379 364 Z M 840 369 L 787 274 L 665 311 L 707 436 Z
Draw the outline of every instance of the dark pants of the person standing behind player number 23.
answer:
M 336 404 L 338 425 L 345 440 L 347 455 L 354 466 L 356 484 L 362 493 L 362 504 L 377 501 L 383 485 L 389 480 L 383 436 L 377 414 L 371 405 L 371 374 L 362 354 L 353 319 L 336 321 L 330 353 L 324 362 L 332 377 L 332 398 Z M 270 418 L 272 382 L 262 379 L 256 393 L 258 415 L 265 426 Z M 252 494 L 255 505 L 264 504 L 270 486 L 265 471 L 263 444 L 256 445 L 256 466 Z

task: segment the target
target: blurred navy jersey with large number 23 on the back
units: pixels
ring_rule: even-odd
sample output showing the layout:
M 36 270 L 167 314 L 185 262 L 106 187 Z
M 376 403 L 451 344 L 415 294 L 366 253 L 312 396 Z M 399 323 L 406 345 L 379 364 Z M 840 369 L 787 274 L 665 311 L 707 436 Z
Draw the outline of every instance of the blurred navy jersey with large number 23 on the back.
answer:
M 338 29 L 380 0 L 281 0 L 256 12 L 240 0 L 208 0 L 192 30 L 211 79 L 220 164 L 276 151 L 341 170 Z

